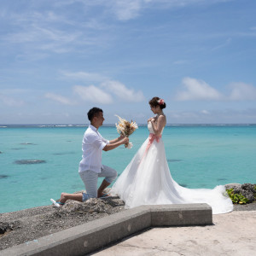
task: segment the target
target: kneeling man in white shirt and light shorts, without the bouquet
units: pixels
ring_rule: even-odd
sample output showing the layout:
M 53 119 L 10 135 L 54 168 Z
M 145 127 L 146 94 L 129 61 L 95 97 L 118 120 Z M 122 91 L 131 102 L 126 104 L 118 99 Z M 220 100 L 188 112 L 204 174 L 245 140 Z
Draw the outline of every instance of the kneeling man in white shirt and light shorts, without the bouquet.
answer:
M 102 150 L 112 150 L 122 144 L 129 143 L 128 137 L 118 137 L 111 141 L 102 137 L 98 132 L 104 121 L 101 108 L 91 108 L 87 115 L 90 125 L 84 132 L 83 155 L 79 164 L 79 175 L 84 182 L 86 193 L 61 193 L 61 199 L 57 202 L 59 204 L 64 204 L 68 199 L 86 201 L 90 198 L 108 196 L 103 194 L 103 190 L 117 177 L 117 172 L 108 166 L 102 165 Z M 98 177 L 105 177 L 99 189 L 97 189 Z

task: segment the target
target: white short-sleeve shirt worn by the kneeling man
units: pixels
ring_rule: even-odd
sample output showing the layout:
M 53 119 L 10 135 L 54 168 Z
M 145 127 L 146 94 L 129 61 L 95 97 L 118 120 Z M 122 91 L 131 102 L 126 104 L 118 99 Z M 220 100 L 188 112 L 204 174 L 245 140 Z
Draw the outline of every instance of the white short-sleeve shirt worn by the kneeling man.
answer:
M 108 140 L 96 130 L 96 127 L 89 125 L 84 132 L 82 143 L 82 160 L 79 164 L 79 172 L 90 170 L 100 173 L 102 167 L 102 149 L 109 143 Z

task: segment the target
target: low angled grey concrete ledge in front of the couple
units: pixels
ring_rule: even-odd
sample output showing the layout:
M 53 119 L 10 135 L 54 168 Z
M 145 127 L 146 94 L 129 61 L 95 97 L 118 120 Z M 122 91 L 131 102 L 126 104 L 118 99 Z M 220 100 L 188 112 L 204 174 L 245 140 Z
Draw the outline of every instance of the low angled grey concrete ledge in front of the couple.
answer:
M 1 251 L 9 255 L 84 255 L 151 226 L 212 224 L 207 204 L 142 206 Z

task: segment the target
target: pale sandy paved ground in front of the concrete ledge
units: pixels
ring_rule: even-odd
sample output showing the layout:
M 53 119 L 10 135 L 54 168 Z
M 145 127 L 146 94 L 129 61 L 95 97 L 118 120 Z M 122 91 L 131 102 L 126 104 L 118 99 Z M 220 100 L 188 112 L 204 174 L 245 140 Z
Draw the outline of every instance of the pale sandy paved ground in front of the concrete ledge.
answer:
M 90 255 L 256 255 L 256 211 L 213 215 L 213 225 L 153 228 Z

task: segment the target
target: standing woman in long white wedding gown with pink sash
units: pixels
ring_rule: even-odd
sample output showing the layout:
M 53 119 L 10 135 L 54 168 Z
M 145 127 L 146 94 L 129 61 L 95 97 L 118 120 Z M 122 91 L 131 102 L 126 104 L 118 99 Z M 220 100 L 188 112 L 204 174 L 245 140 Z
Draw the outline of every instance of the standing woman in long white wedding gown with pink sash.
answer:
M 138 149 L 125 171 L 113 184 L 110 194 L 119 195 L 125 207 L 141 205 L 207 203 L 212 213 L 231 212 L 233 204 L 222 185 L 214 189 L 187 189 L 172 179 L 162 132 L 166 126 L 163 109 L 166 103 L 159 97 L 149 101 L 155 114 L 148 119 L 149 137 Z

